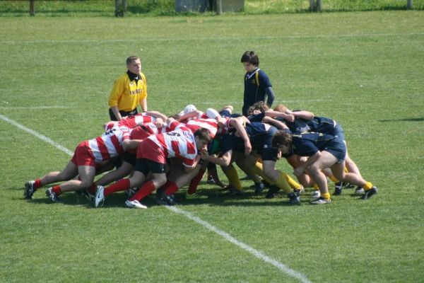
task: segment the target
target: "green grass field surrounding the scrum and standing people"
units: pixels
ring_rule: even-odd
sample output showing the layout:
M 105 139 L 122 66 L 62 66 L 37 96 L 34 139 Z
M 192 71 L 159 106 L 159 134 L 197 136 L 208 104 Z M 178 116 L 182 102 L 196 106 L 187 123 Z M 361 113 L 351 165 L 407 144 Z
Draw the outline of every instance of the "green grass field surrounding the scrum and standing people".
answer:
M 0 282 L 422 281 L 422 11 L 4 17 L 0 38 Z M 307 190 L 290 207 L 245 181 L 242 197 L 184 188 L 173 210 L 124 209 L 123 194 L 101 209 L 73 193 L 23 200 L 26 180 L 61 170 L 64 149 L 101 134 L 126 57 L 141 56 L 149 108 L 170 115 L 187 103 L 240 110 L 245 50 L 259 53 L 276 103 L 343 125 L 376 197 L 345 190 L 312 206 Z

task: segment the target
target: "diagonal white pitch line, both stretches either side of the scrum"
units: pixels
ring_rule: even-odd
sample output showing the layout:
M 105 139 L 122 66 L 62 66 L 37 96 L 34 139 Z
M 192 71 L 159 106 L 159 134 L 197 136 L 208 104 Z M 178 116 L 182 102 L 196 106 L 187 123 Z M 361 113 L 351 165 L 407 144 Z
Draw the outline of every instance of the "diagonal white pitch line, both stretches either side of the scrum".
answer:
M 4 115 L 0 115 L 0 119 L 6 121 L 8 123 L 11 123 L 12 125 L 18 127 L 19 129 L 23 129 L 25 132 L 28 132 L 29 134 L 32 134 L 33 136 L 41 139 L 42 141 L 47 142 L 47 144 L 51 144 L 52 146 L 56 147 L 57 149 L 60 149 L 61 151 L 64 151 L 66 154 L 68 154 L 70 156 L 73 154 L 72 151 L 70 151 L 69 149 L 66 149 L 64 146 L 61 146 L 60 144 L 57 144 L 57 142 L 52 141 L 52 139 L 49 139 L 48 137 L 45 137 L 44 135 L 39 134 L 32 129 L 28 129 L 27 127 L 20 125 L 18 122 L 11 120 Z M 204 220 L 201 220 L 199 217 L 194 216 L 193 214 L 191 214 L 189 212 L 185 212 L 184 210 L 179 209 L 177 207 L 167 207 L 167 209 L 170 209 L 172 212 L 182 214 L 182 215 L 186 216 L 188 219 L 193 220 L 197 224 L 201 224 L 201 226 L 204 226 L 206 229 L 217 233 L 219 236 L 222 236 L 223 238 L 225 238 L 225 240 L 229 241 L 230 243 L 235 244 L 235 246 L 242 248 L 243 250 L 254 255 L 255 257 L 259 258 L 260 260 L 263 260 L 264 262 L 270 263 L 271 265 L 277 267 L 278 270 L 281 270 L 285 274 L 299 279 L 300 282 L 312 283 L 310 280 L 307 279 L 307 277 L 305 277 L 305 275 L 302 275 L 302 273 L 297 272 L 295 270 L 292 270 L 290 267 L 288 267 L 287 265 L 284 265 L 283 263 L 279 262 L 278 260 L 274 260 L 273 258 L 270 258 L 268 255 L 261 253 L 259 250 L 255 250 L 251 246 L 249 246 L 249 245 L 247 245 L 243 242 L 238 241 L 236 238 L 230 236 L 230 234 L 216 228 L 215 226 L 209 224 L 208 222 L 206 222 Z

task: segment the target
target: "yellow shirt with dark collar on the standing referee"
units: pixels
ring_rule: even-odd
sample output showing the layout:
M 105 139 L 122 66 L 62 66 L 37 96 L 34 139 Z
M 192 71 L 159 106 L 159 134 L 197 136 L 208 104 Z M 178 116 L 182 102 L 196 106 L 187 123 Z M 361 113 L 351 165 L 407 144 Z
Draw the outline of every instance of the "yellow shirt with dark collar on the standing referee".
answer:
M 114 81 L 109 96 L 109 108 L 117 106 L 120 111 L 131 112 L 141 104 L 144 98 L 147 98 L 147 83 L 144 74 L 140 74 L 139 81 L 131 81 L 128 74 L 125 73 Z

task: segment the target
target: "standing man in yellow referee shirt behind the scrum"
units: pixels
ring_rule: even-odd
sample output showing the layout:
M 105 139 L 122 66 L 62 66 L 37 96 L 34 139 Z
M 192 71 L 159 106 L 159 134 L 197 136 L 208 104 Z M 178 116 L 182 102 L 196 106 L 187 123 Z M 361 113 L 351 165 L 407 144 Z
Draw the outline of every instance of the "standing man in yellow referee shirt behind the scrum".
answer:
M 131 56 L 126 59 L 126 74 L 114 81 L 109 96 L 110 120 L 119 121 L 122 117 L 136 115 L 137 106 L 143 112 L 147 111 L 146 77 L 141 73 L 139 57 Z

